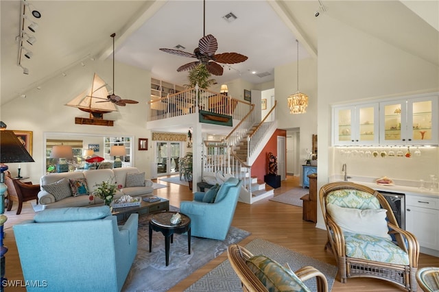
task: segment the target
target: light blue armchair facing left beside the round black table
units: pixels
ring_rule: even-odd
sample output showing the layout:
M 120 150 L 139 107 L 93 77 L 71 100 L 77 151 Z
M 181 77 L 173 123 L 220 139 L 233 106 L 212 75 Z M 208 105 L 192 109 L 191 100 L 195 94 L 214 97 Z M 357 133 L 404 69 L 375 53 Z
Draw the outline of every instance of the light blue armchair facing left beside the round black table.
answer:
M 241 180 L 237 178 L 226 180 L 219 188 L 213 203 L 203 202 L 207 192 L 197 192 L 192 202 L 180 203 L 180 211 L 191 218 L 192 236 L 226 239 L 233 215 L 235 215 L 241 184 Z

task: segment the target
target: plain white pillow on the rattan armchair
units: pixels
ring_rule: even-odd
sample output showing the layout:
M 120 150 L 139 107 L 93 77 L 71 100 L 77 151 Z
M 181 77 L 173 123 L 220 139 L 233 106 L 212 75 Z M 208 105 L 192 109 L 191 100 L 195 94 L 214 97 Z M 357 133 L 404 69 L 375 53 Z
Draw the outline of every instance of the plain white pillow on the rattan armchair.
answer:
M 329 203 L 327 211 L 343 231 L 380 236 L 392 240 L 388 234 L 387 210 L 385 209 L 366 209 L 342 208 Z

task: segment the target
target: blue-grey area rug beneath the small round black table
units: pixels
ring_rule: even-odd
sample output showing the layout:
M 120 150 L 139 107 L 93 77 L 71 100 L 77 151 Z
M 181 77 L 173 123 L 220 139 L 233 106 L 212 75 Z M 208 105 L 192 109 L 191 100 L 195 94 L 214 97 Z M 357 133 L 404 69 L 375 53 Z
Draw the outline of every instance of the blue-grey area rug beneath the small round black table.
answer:
M 250 232 L 232 226 L 224 241 L 192 236 L 191 254 L 187 254 L 187 235 L 174 234 L 174 243 L 171 243 L 169 250 L 169 265 L 166 266 L 163 234 L 152 233 L 150 253 L 147 216 L 139 217 L 137 256 L 122 291 L 167 291 L 219 254 L 227 252 L 228 245 L 239 243 L 249 235 Z

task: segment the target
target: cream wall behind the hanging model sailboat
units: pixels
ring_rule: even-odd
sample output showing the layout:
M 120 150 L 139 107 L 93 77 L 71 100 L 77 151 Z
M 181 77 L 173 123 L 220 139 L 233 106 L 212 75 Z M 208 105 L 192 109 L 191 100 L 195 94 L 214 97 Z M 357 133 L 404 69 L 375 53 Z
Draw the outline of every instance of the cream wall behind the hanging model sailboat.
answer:
M 75 125 L 75 117 L 88 117 L 88 113 L 77 108 L 64 106 L 91 86 L 93 73 L 97 73 L 112 86 L 112 60 L 88 60 L 81 66 L 78 64 L 45 84 L 40 90 L 32 89 L 26 98 L 18 97 L 1 106 L 1 121 L 8 125 L 8 130 L 26 130 L 33 132 L 33 155 L 35 162 L 21 163 L 21 175 L 29 176 L 38 183 L 45 174 L 43 161 L 43 132 L 74 132 L 92 134 L 111 134 L 117 136 L 134 136 L 135 167 L 150 173 L 150 161 L 153 161 L 150 131 L 146 130 L 147 101 L 150 100 L 150 72 L 116 62 L 115 93 L 123 99 L 134 99 L 139 104 L 127 104 L 117 107 L 118 112 L 104 114 L 104 119 L 114 120 L 113 127 L 97 125 Z M 148 151 L 138 151 L 137 138 L 149 138 Z M 17 163 L 8 164 L 12 174 L 16 174 Z

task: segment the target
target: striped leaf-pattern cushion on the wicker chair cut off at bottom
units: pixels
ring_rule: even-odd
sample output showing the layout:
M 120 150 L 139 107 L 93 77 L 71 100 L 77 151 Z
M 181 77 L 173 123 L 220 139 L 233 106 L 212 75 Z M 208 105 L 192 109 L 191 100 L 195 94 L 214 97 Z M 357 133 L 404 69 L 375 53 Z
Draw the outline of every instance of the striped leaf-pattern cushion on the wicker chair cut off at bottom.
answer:
M 295 273 L 266 256 L 252 256 L 246 264 L 268 291 L 310 291 Z

